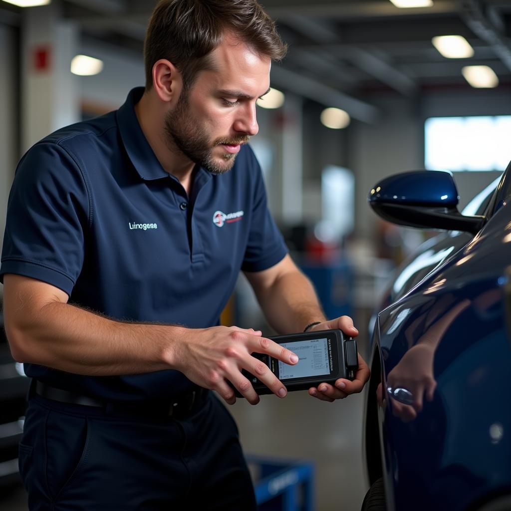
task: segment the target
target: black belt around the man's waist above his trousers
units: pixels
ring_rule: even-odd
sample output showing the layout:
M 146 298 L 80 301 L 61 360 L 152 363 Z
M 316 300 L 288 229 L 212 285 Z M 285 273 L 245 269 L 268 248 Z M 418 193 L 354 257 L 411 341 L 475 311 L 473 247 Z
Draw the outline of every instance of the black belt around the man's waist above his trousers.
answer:
M 141 416 L 148 415 L 151 417 L 182 417 L 188 415 L 190 412 L 198 408 L 207 396 L 207 390 L 205 388 L 197 387 L 195 390 L 179 394 L 171 401 L 158 401 L 155 403 L 120 403 L 102 401 L 89 396 L 83 396 L 83 394 L 78 394 L 76 392 L 51 387 L 39 380 L 35 382 L 33 388 L 34 392 L 38 396 L 53 401 L 59 401 L 61 403 L 103 408 L 107 413 L 128 413 Z

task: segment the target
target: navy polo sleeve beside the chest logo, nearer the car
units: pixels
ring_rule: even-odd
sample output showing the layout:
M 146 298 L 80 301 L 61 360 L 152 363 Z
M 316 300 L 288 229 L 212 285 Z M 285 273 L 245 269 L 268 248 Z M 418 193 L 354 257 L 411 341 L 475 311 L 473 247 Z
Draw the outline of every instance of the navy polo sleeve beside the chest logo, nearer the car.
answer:
M 253 172 L 253 201 L 250 232 L 241 269 L 262 271 L 282 261 L 288 253 L 284 238 L 268 210 L 263 175 L 257 159 L 250 151 Z

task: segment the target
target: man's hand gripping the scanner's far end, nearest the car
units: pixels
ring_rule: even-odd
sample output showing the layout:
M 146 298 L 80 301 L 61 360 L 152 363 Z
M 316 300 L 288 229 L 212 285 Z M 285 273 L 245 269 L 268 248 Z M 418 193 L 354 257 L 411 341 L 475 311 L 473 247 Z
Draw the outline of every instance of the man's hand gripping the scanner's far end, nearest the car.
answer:
M 358 335 L 358 330 L 353 326 L 353 319 L 349 316 L 341 316 L 336 319 L 331 319 L 330 321 L 316 324 L 308 330 L 308 332 L 334 329 L 342 330 L 345 335 L 350 337 L 357 337 Z M 369 380 L 369 374 L 369 367 L 359 354 L 358 371 L 353 381 L 339 378 L 334 385 L 330 383 L 320 383 L 317 387 L 311 387 L 309 389 L 309 394 L 321 401 L 330 401 L 332 403 L 336 399 L 344 399 L 350 394 L 360 392 L 364 388 L 367 380 Z

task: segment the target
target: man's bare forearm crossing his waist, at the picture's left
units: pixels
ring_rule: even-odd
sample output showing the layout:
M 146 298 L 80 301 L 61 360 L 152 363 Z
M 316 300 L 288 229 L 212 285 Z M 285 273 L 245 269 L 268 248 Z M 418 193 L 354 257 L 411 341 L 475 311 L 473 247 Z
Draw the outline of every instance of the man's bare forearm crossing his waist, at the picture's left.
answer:
M 13 356 L 82 375 L 137 374 L 170 369 L 184 328 L 123 323 L 53 301 L 26 321 L 6 322 Z

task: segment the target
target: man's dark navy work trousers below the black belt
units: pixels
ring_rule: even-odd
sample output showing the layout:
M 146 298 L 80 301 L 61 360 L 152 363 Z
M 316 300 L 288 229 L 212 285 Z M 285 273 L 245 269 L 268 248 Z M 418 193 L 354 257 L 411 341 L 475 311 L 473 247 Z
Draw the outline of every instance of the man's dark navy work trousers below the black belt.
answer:
M 31 511 L 256 509 L 236 423 L 211 392 L 180 419 L 34 396 L 19 469 Z

